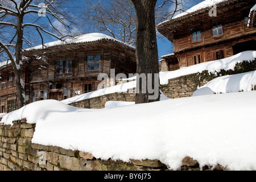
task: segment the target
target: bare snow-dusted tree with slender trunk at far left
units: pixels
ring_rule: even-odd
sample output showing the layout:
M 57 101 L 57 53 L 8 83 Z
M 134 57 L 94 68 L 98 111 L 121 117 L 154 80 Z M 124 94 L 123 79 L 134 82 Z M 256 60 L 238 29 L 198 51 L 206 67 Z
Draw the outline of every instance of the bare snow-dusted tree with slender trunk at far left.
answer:
M 64 35 L 54 26 L 53 20 L 68 27 L 67 21 L 60 11 L 56 8 L 56 1 L 36 1 L 36 0 L 3 0 L 0 2 L 0 52 L 5 52 L 13 64 L 15 75 L 15 84 L 18 98 L 18 108 L 25 105 L 24 83 L 22 75 L 23 64 L 23 43 L 32 45 L 30 40 L 26 38 L 30 32 L 37 32 L 42 44 L 44 43 L 43 35 L 51 35 L 56 39 L 64 38 Z M 60 1 L 58 1 L 60 3 Z M 57 32 L 57 35 L 52 33 L 52 30 L 47 26 L 39 24 L 42 17 L 46 18 L 49 27 Z M 32 29 L 31 29 L 32 28 Z M 2 33 L 2 30 L 6 34 Z M 31 31 L 32 30 L 32 31 Z

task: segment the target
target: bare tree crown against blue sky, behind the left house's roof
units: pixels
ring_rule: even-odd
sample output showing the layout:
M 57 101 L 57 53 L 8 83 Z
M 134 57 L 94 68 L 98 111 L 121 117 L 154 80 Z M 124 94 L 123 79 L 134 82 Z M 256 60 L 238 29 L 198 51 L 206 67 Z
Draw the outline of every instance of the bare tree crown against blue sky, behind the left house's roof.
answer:
M 84 27 L 104 32 L 128 44 L 135 43 L 135 11 L 130 0 L 85 0 Z

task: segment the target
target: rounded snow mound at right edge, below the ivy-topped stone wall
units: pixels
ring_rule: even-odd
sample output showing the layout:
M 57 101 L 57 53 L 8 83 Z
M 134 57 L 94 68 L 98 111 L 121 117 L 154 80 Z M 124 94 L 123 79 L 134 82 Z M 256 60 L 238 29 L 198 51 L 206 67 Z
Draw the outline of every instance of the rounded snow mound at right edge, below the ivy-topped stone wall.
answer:
M 214 93 L 248 92 L 256 85 L 256 71 L 214 78 L 201 88 L 210 88 Z

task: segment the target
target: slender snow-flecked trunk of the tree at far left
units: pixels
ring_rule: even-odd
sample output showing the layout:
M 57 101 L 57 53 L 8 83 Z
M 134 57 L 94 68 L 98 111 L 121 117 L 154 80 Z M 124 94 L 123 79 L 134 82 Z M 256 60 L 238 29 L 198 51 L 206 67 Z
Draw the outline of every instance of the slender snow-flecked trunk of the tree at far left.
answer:
M 23 107 L 25 103 L 25 90 L 23 84 L 22 75 L 22 47 L 23 47 L 23 15 L 19 14 L 17 22 L 17 39 L 16 39 L 16 49 L 15 49 L 15 65 L 14 65 L 14 75 L 15 84 L 18 97 L 18 109 Z

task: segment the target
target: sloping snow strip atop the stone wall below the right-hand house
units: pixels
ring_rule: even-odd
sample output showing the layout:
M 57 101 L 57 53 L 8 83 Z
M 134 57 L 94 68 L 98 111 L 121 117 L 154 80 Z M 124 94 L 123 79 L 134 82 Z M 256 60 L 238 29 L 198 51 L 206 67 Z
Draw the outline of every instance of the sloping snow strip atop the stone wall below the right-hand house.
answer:
M 216 60 L 216 61 L 208 61 L 205 63 L 200 63 L 196 65 L 192 65 L 190 67 L 185 67 L 178 69 L 176 71 L 170 72 L 160 72 L 160 84 L 168 84 L 168 80 L 171 78 L 177 78 L 184 75 L 189 75 L 197 72 L 202 72 L 208 70 L 209 72 L 214 73 L 219 72 L 221 69 L 234 70 L 234 67 L 237 63 L 241 63 L 244 60 L 253 61 L 256 58 L 256 51 L 245 51 L 238 53 L 237 55 L 226 57 L 224 59 Z

